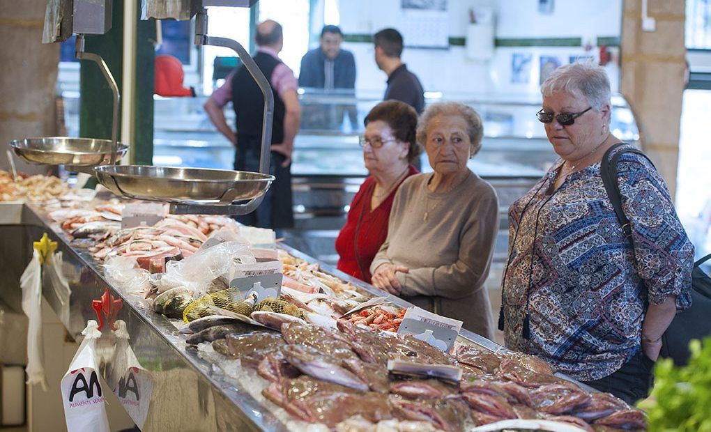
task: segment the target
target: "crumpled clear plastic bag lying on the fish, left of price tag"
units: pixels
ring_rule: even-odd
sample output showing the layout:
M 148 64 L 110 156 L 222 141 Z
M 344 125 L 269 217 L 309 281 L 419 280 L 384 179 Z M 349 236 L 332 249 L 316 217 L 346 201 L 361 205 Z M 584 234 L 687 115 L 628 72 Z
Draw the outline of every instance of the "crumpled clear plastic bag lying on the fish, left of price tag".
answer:
M 217 244 L 201 250 L 183 261 L 169 261 L 164 274 L 156 285 L 156 292 L 184 286 L 199 297 L 208 293 L 210 285 L 220 276 L 230 274 L 237 264 L 255 264 L 257 260 L 250 247 L 237 242 Z

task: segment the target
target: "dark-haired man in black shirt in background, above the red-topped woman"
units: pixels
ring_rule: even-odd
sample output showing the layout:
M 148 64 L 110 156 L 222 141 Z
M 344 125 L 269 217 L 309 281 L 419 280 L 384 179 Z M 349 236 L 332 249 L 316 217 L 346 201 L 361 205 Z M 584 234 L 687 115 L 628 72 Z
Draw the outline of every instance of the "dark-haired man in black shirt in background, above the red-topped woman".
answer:
M 387 89 L 383 99 L 400 100 L 415 108 L 417 114 L 422 114 L 424 111 L 422 84 L 400 60 L 402 35 L 395 28 L 385 28 L 375 33 L 374 40 L 375 63 L 387 74 Z

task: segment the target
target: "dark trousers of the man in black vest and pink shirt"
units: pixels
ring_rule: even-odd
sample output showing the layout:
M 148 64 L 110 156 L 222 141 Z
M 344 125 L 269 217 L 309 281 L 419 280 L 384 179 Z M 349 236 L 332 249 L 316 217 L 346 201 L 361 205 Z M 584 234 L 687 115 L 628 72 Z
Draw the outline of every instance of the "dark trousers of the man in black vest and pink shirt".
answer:
M 272 151 L 269 159 L 269 174 L 276 178 L 264 195 L 262 204 L 248 215 L 235 219 L 245 225 L 260 228 L 294 227 L 294 205 L 292 198 L 292 166 L 282 167 L 284 156 Z M 260 141 L 255 139 L 237 139 L 235 151 L 235 170 L 260 171 Z

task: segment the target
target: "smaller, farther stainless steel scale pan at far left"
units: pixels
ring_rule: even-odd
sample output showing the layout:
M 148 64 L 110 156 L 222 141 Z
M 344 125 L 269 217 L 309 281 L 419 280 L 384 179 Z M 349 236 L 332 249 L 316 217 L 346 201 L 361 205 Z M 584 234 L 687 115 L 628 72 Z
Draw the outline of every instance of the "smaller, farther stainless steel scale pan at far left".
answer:
M 17 156 L 29 163 L 68 165 L 76 168 L 105 165 L 111 161 L 111 154 L 114 151 L 108 139 L 65 136 L 14 139 L 10 141 L 10 146 Z M 118 146 L 117 161 L 129 149 L 123 143 L 119 143 Z

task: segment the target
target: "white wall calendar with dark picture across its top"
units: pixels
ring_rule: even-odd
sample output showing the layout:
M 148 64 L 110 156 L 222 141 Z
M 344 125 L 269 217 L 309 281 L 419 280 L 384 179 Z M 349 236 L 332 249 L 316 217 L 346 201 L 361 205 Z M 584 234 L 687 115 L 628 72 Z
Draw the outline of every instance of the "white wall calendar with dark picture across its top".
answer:
M 402 38 L 412 48 L 449 48 L 448 0 L 400 0 Z

